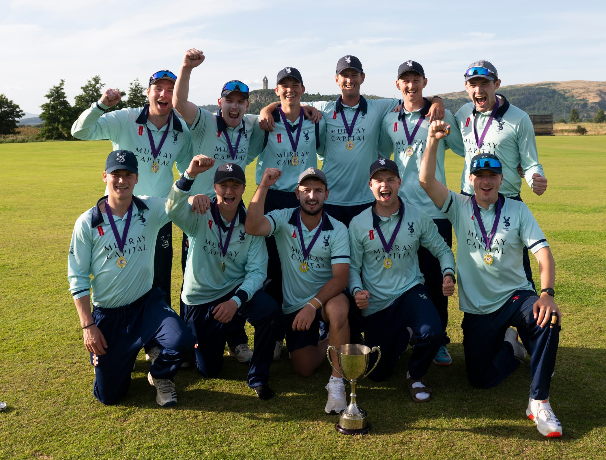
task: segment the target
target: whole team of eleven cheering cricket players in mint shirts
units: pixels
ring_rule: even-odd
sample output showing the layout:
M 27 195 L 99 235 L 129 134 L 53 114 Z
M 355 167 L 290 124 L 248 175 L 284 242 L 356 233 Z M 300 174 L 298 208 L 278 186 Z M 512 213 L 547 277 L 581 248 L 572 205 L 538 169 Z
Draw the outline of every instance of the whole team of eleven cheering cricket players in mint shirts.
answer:
M 341 95 L 308 103 L 301 72 L 288 66 L 276 77 L 279 102 L 257 116 L 238 79 L 218 90 L 217 113 L 188 100 L 204 59 L 191 48 L 177 74 L 154 73 L 145 107 L 106 113 L 121 97 L 106 90 L 72 127 L 76 138 L 113 144 L 105 196 L 76 221 L 68 255 L 95 398 L 118 403 L 145 348 L 156 401 L 174 405 L 179 369 L 220 377 L 227 344 L 248 364 L 248 387 L 268 400 L 285 339 L 302 378 L 328 345 L 362 342 L 381 346 L 370 378 L 383 381 L 411 345 L 403 387 L 427 402 L 439 398 L 425 381 L 431 363 L 453 364 L 447 307 L 458 287 L 470 385 L 498 385 L 530 355 L 526 415 L 542 435 L 561 436 L 549 398 L 562 321 L 553 255 L 520 198 L 522 178 L 536 195 L 547 179 L 530 118 L 496 93 L 494 65 L 468 66 L 470 102 L 454 115 L 424 97 L 416 61 L 397 70 L 402 99 L 366 99 L 362 62 L 343 56 Z M 464 158 L 460 192 L 447 188 L 448 149 Z M 248 208 L 247 165 L 257 185 Z M 173 224 L 183 232 L 179 313 L 170 304 Z M 333 363 L 329 414 L 347 407 Z

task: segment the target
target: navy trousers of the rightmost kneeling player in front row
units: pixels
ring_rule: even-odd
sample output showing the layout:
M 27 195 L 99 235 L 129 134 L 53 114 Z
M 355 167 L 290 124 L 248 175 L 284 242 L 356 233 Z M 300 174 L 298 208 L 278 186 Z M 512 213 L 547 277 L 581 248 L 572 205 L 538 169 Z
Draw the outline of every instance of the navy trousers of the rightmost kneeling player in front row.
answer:
M 520 362 L 505 342 L 505 331 L 514 326 L 530 353 L 530 397 L 547 399 L 551 374 L 556 365 L 560 327 L 536 324 L 533 304 L 538 296 L 530 290 L 518 290 L 496 312 L 487 315 L 464 313 L 463 347 L 465 366 L 472 386 L 490 388 L 510 375 Z

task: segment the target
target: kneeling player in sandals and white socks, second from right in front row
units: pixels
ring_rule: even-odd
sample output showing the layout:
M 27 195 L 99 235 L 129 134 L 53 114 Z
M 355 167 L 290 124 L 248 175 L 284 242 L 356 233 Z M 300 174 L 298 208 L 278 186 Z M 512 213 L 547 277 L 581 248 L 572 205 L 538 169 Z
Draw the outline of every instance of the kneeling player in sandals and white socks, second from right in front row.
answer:
M 365 344 L 381 346 L 381 361 L 370 378 L 387 378 L 414 335 L 407 388 L 413 401 L 425 402 L 431 388 L 422 377 L 446 333 L 424 286 L 417 251 L 422 245 L 439 260 L 444 296 L 454 293 L 454 256 L 430 216 L 399 198 L 401 184 L 395 162 L 379 158 L 370 165 L 368 185 L 375 202 L 349 225 L 349 290 Z

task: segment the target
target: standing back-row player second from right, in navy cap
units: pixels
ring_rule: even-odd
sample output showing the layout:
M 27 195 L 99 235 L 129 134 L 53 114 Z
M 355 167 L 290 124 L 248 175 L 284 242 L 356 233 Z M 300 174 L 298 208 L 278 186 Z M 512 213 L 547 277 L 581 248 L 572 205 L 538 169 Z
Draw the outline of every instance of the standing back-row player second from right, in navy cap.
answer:
M 425 150 L 427 130 L 430 121 L 427 118 L 431 103 L 423 98 L 423 88 L 427 85 L 425 70 L 416 61 L 404 61 L 398 68 L 396 87 L 402 93 L 402 107 L 398 112 L 390 112 L 383 117 L 381 136 L 379 136 L 379 156 L 390 158 L 398 165 L 402 186 L 398 195 L 403 201 L 410 203 L 426 212 L 438 226 L 438 232 L 449 248 L 453 245 L 452 225 L 445 216 L 436 209 L 425 190 L 419 185 L 419 165 Z M 456 124 L 454 116 L 445 110 L 444 120 L 448 124 Z M 450 148 L 457 155 L 465 154 L 461 132 L 455 130 L 438 147 L 438 168 L 436 178 L 446 185 L 444 173 L 444 151 Z M 442 322 L 442 331 L 446 332 L 448 325 L 448 298 L 442 293 L 442 270 L 438 258 L 435 258 L 427 248 L 419 245 L 419 268 L 425 279 L 425 289 L 431 301 L 438 309 Z M 433 362 L 445 366 L 452 362 L 448 353 L 448 336 L 444 336 L 444 344 L 436 353 Z

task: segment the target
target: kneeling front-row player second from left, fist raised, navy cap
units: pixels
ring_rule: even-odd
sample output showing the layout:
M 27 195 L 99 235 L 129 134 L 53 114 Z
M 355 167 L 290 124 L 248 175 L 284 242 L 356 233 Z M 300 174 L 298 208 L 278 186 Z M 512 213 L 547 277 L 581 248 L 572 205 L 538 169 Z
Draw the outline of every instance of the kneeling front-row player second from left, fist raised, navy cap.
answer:
M 219 375 L 228 334 L 248 319 L 255 328 L 255 347 L 247 384 L 259 398 L 271 399 L 267 381 L 281 313 L 261 290 L 267 276 L 265 241 L 244 230 L 244 171 L 235 163 L 220 165 L 216 198 L 196 195 L 191 210 L 188 206 L 194 179 L 214 164 L 207 156 L 195 156 L 166 203 L 168 216 L 190 242 L 181 294 L 184 319 L 196 337 L 196 367 L 205 377 Z

